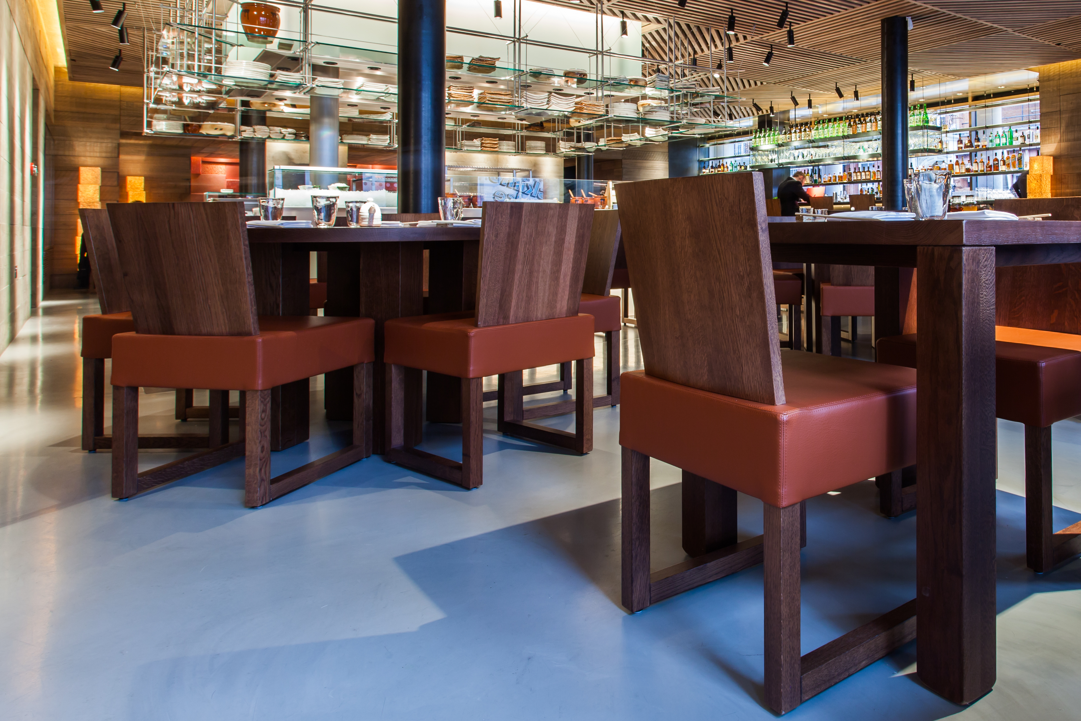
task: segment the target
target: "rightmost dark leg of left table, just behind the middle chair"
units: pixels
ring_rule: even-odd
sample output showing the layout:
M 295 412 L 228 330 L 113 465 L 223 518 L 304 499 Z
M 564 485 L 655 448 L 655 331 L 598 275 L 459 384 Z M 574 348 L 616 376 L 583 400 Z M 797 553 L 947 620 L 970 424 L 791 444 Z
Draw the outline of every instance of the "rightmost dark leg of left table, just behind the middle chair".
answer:
M 428 253 L 428 312 L 476 308 L 480 241 L 431 243 Z M 429 423 L 462 423 L 462 379 L 429 371 L 425 410 Z

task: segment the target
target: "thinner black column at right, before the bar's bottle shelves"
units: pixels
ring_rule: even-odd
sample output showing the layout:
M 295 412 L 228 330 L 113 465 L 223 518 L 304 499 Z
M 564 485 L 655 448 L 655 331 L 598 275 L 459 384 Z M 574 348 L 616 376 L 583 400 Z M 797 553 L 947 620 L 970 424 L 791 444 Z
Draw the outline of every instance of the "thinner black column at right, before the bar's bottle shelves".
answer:
M 905 206 L 908 174 L 908 18 L 882 18 L 882 204 Z

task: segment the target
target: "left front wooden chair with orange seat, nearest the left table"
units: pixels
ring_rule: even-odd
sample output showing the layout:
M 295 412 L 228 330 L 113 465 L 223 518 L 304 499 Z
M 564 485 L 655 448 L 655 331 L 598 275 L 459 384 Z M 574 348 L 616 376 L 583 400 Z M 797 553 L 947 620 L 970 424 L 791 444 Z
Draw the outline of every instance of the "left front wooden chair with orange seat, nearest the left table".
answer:
M 370 318 L 256 317 L 240 203 L 114 203 L 135 332 L 112 338 L 112 495 L 136 493 L 245 456 L 244 504 L 262 506 L 371 455 Z M 352 443 L 270 478 L 270 393 L 342 368 L 353 372 Z M 138 472 L 138 387 L 210 388 L 210 449 Z M 241 438 L 226 403 L 241 391 Z

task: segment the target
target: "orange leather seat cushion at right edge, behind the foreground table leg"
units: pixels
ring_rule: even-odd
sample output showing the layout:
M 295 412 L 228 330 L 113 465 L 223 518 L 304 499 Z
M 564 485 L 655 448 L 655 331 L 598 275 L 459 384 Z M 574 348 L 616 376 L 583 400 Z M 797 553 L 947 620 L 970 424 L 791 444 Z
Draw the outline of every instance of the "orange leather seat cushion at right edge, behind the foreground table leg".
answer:
M 915 333 L 879 338 L 878 361 L 916 368 Z M 1081 414 L 1081 336 L 995 326 L 995 414 L 1040 428 Z

